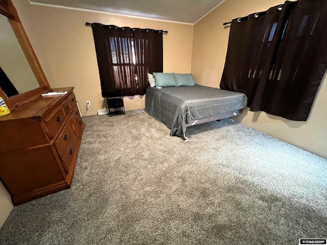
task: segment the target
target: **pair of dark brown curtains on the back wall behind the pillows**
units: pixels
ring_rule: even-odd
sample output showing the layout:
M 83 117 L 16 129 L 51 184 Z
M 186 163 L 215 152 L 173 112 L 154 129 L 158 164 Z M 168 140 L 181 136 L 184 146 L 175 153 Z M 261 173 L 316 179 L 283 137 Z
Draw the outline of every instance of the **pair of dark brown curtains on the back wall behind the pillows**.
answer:
M 162 72 L 162 32 L 100 23 L 93 23 L 92 31 L 102 96 L 145 94 L 147 72 Z

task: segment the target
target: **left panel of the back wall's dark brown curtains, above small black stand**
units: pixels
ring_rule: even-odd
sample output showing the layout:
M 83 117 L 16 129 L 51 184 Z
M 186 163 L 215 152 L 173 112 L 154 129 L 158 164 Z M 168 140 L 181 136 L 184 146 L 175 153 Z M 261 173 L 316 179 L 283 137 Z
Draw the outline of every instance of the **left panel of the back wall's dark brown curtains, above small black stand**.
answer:
M 110 93 L 134 95 L 137 91 L 130 28 L 92 24 L 102 96 Z

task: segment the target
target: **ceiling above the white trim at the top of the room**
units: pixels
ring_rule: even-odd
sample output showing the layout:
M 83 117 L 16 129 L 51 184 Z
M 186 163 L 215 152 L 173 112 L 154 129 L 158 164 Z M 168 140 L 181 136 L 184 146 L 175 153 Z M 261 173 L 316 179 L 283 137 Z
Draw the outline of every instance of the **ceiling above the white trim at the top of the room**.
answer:
M 139 17 L 195 23 L 224 0 L 29 0 Z

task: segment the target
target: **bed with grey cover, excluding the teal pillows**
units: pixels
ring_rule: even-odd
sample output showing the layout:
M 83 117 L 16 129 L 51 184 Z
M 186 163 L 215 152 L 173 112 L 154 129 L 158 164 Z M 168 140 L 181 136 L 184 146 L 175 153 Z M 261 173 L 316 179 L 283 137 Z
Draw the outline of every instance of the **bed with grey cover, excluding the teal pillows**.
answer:
M 245 94 L 219 88 L 148 87 L 145 111 L 171 129 L 171 136 L 188 141 L 187 127 L 239 115 L 246 104 Z

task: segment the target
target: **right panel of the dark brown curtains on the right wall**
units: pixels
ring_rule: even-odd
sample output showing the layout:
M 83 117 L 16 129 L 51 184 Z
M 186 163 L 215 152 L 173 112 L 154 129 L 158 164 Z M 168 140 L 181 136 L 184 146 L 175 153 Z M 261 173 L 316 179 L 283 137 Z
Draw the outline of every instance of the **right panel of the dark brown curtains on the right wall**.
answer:
M 287 1 L 283 10 L 271 72 L 252 108 L 305 121 L 327 68 L 327 1 Z

